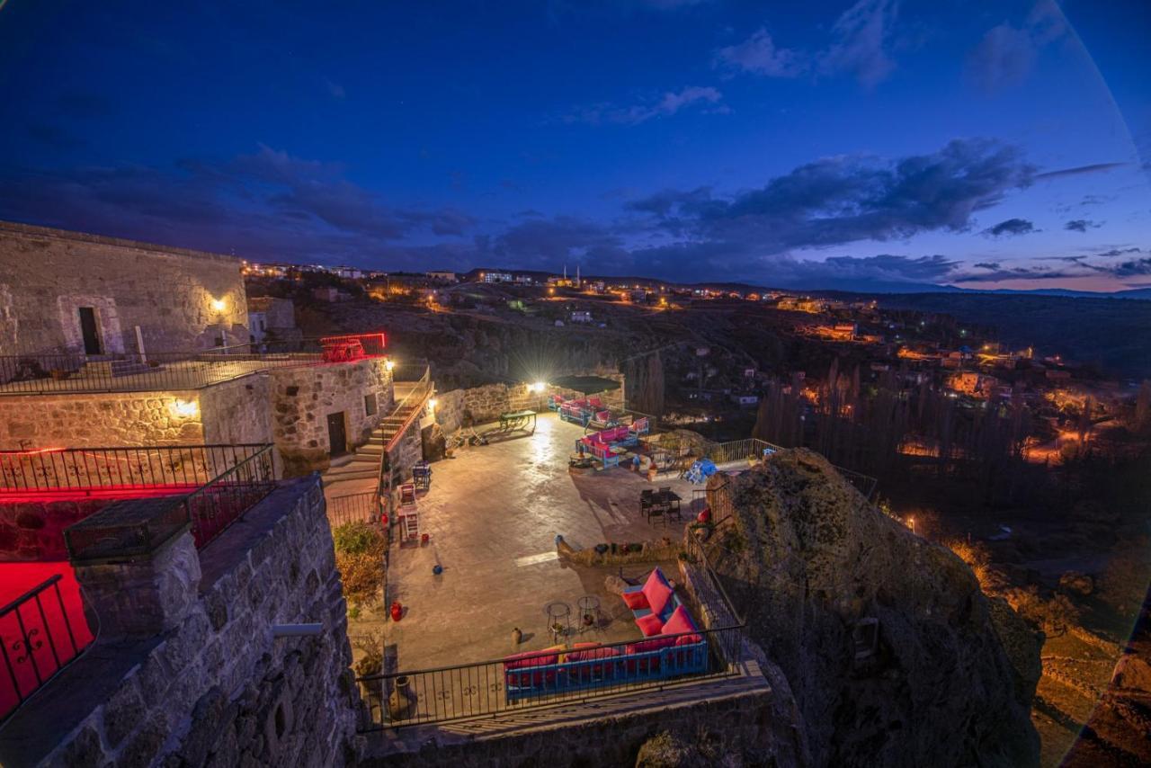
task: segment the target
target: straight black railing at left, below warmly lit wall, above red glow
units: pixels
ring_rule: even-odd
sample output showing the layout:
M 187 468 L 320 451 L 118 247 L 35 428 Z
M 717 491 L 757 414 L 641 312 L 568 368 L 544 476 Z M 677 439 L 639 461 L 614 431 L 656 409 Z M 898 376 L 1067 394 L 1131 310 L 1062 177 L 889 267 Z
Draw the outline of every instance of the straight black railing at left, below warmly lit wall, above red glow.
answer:
M 265 444 L 41 448 L 0 450 L 0 500 L 6 494 L 86 494 L 196 488 L 243 463 Z

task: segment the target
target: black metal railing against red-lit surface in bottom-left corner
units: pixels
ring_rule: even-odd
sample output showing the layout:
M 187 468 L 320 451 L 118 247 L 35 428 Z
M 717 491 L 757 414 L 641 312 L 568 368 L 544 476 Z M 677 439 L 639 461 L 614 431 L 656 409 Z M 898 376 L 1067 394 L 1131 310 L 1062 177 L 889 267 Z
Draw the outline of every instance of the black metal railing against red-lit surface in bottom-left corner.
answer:
M 56 573 L 0 608 L 0 722 L 92 644 L 83 613 L 70 615 L 61 578 Z M 76 611 L 82 611 L 78 600 Z

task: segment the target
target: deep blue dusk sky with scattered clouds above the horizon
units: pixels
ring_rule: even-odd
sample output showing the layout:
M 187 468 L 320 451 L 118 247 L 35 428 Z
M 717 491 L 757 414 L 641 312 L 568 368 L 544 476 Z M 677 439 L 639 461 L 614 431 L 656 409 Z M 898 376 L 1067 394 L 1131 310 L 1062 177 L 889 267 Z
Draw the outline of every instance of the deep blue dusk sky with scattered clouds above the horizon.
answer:
M 0 218 L 390 269 L 1151 284 L 1149 31 L 1139 0 L 0 0 Z

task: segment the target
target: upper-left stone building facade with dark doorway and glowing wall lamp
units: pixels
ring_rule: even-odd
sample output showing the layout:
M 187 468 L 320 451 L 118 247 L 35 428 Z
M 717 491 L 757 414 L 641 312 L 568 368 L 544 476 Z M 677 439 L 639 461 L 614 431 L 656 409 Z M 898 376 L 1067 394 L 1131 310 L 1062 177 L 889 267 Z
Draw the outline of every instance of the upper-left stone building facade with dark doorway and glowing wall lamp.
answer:
M 215 253 L 0 222 L 0 353 L 82 352 L 82 306 L 107 352 L 138 351 L 136 326 L 145 351 L 246 343 L 239 269 Z

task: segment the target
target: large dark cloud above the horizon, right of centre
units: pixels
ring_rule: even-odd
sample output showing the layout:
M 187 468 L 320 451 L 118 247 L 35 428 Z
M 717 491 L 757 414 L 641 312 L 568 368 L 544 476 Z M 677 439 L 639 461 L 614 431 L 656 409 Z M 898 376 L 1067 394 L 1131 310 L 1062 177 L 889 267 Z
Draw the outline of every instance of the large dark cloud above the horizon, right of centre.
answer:
M 800 166 L 731 198 L 706 188 L 634 200 L 669 235 L 725 245 L 731 256 L 962 231 L 973 214 L 1030 184 L 1020 151 L 986 139 L 897 160 L 839 155 Z

